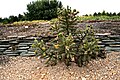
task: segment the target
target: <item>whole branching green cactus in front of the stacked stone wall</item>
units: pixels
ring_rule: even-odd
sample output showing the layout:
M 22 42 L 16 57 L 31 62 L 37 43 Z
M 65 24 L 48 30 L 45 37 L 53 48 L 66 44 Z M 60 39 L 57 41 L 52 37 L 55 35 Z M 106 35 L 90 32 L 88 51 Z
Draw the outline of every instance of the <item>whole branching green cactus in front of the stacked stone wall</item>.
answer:
M 77 14 L 69 6 L 58 11 L 58 21 L 51 26 L 51 32 L 56 33 L 56 38 L 45 42 L 35 40 L 32 45 L 35 54 L 46 58 L 46 63 L 56 65 L 64 62 L 67 66 L 75 62 L 78 66 L 86 65 L 91 59 L 96 59 L 100 53 L 97 39 L 92 26 L 79 30 Z

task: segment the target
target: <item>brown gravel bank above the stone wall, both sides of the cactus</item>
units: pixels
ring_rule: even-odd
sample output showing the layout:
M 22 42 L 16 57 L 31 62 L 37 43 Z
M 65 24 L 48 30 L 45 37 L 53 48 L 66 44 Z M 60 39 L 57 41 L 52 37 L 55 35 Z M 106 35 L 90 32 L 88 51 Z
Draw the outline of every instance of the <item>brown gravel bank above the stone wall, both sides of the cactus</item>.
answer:
M 120 22 L 118 23 L 109 23 L 108 22 L 100 22 L 100 23 L 79 23 L 77 27 L 80 29 L 84 29 L 86 25 L 93 25 L 94 29 L 97 33 L 118 33 Z M 109 27 L 106 27 L 106 26 Z M 113 28 L 113 26 L 116 27 Z M 0 26 L 0 39 L 7 39 L 8 36 L 40 36 L 49 35 L 50 33 L 50 24 L 49 22 L 44 23 L 36 23 L 35 25 L 28 25 L 29 27 L 26 29 L 25 26 L 11 26 L 11 27 L 2 27 Z M 112 29 L 111 29 L 112 27 Z

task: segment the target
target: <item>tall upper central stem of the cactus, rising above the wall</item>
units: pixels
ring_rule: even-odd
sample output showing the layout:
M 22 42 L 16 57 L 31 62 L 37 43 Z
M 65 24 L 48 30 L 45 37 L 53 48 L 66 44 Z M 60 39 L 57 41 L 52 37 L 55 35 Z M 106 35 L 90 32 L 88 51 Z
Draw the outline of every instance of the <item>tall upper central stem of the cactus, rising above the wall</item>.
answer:
M 60 32 L 64 32 L 65 35 L 69 35 L 69 33 L 74 34 L 74 32 L 76 31 L 75 25 L 77 24 L 77 14 L 79 12 L 74 10 L 71 10 L 71 8 L 69 6 L 67 6 L 67 8 L 63 8 L 60 12 L 59 12 L 59 26 Z

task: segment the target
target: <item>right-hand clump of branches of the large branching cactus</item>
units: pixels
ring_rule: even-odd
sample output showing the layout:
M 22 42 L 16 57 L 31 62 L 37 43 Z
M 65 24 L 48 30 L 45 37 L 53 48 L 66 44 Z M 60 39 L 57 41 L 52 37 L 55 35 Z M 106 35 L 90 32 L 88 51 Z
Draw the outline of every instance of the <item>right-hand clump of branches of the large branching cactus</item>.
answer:
M 94 31 L 91 26 L 87 26 L 85 30 L 79 31 L 76 34 L 76 54 L 75 62 L 78 66 L 86 64 L 91 59 L 96 59 L 99 46 L 97 44 L 98 40 L 95 39 Z

